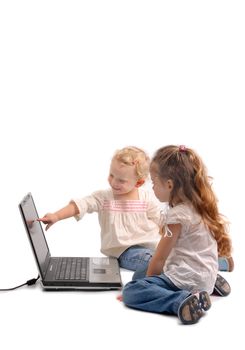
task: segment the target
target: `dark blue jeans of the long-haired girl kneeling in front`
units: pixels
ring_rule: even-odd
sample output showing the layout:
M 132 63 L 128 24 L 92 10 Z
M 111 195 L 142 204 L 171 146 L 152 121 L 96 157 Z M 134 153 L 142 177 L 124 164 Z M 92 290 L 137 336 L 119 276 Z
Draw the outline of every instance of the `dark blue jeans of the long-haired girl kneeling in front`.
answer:
M 190 294 L 161 274 L 127 283 L 123 289 L 123 302 L 138 310 L 177 315 L 179 306 Z

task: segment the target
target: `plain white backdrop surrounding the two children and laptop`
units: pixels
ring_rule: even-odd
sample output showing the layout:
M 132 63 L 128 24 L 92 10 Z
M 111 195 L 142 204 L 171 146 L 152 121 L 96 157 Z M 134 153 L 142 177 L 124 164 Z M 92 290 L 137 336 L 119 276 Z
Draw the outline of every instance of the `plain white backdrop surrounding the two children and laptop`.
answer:
M 106 188 L 110 159 L 126 145 L 150 155 L 167 144 L 197 150 L 231 222 L 236 264 L 224 274 L 232 294 L 213 298 L 190 327 L 127 309 L 117 292 L 37 285 L 1 293 L 1 347 L 224 350 L 239 342 L 244 18 L 235 0 L 0 2 L 0 288 L 37 275 L 22 197 L 31 191 L 43 215 Z M 99 255 L 96 214 L 58 223 L 47 240 L 52 255 Z

